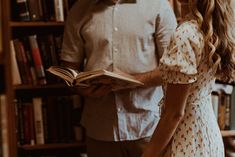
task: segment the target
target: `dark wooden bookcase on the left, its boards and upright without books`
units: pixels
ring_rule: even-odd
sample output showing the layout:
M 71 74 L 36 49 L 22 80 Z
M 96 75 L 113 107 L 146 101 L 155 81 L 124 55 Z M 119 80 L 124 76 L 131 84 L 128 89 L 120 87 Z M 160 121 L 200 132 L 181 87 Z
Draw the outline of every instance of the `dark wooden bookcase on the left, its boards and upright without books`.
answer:
M 66 1 L 69 1 L 69 3 L 72 4 L 71 0 L 66 0 Z M 53 50 L 56 53 L 59 53 L 59 50 L 60 50 L 59 44 L 62 39 L 63 28 L 64 28 L 63 21 L 44 20 L 44 19 L 40 19 L 37 21 L 19 20 L 15 17 L 15 15 L 17 14 L 16 13 L 17 9 L 15 9 L 16 7 L 15 4 L 16 4 L 16 1 L 14 0 L 0 2 L 0 7 L 4 8 L 4 9 L 0 9 L 1 15 L 2 15 L 0 16 L 1 21 L 2 21 L 2 23 L 0 23 L 1 24 L 0 28 L 2 29 L 1 31 L 2 34 L 0 34 L 1 35 L 0 42 L 2 42 L 1 44 L 2 48 L 0 49 L 0 73 L 1 73 L 0 75 L 1 93 L 0 94 L 4 95 L 6 98 L 5 118 L 7 119 L 7 123 L 4 126 L 5 127 L 4 130 L 7 134 L 5 134 L 6 135 L 5 141 L 4 141 L 5 149 L 3 150 L 4 151 L 3 157 L 28 157 L 28 156 L 30 157 L 34 157 L 34 156 L 35 157 L 41 157 L 41 156 L 65 157 L 67 156 L 66 154 L 68 154 L 71 157 L 74 157 L 74 156 L 77 157 L 79 156 L 79 153 L 85 151 L 85 143 L 82 139 L 80 140 L 59 139 L 58 141 L 56 140 L 53 142 L 51 141 L 47 142 L 45 140 L 44 144 L 37 144 L 37 143 L 28 144 L 28 143 L 20 143 L 19 141 L 19 136 L 20 136 L 19 134 L 22 132 L 20 132 L 20 129 L 19 129 L 20 124 L 19 124 L 19 117 L 18 117 L 18 114 L 19 114 L 18 104 L 17 104 L 18 102 L 20 102 L 21 100 L 25 100 L 25 99 L 31 100 L 33 98 L 42 98 L 43 100 L 44 98 L 46 100 L 47 99 L 50 100 L 51 98 L 53 98 L 53 100 L 55 99 L 57 103 L 62 104 L 64 102 L 59 102 L 59 99 L 58 100 L 56 99 L 57 97 L 58 98 L 68 97 L 68 99 L 70 100 L 70 97 L 75 95 L 75 92 L 73 92 L 72 88 L 71 89 L 68 88 L 61 80 L 51 80 L 51 81 L 47 80 L 47 83 L 44 83 L 44 84 L 39 84 L 38 82 L 37 83 L 24 83 L 23 82 L 20 84 L 13 83 L 13 80 L 14 80 L 13 78 L 15 77 L 15 75 L 12 72 L 12 67 L 13 67 L 12 57 L 15 57 L 15 56 L 12 55 L 12 49 L 11 49 L 12 47 L 10 45 L 10 41 L 12 41 L 13 39 L 19 39 L 20 41 L 23 42 L 22 40 L 23 38 L 21 39 L 21 37 L 28 37 L 30 35 L 36 35 L 36 36 L 42 35 L 42 36 L 47 37 L 47 35 L 51 33 L 50 37 L 53 38 L 54 44 L 57 44 L 57 45 L 50 45 L 51 46 L 50 50 L 51 51 Z M 64 12 L 64 14 L 66 15 L 66 12 Z M 39 37 L 37 39 L 39 40 Z M 46 40 L 46 44 L 48 41 Z M 39 43 L 38 46 L 41 52 L 42 48 L 40 47 L 41 46 L 40 44 L 41 43 Z M 23 46 L 25 48 L 27 45 L 23 45 Z M 49 49 L 46 49 L 46 50 L 49 51 Z M 45 51 L 45 52 L 48 52 L 48 51 Z M 43 59 L 44 58 L 42 58 L 42 61 L 44 61 Z M 50 64 L 52 63 L 54 62 L 51 61 Z M 17 65 L 19 66 L 19 64 L 20 63 L 17 60 Z M 42 62 L 42 64 L 44 64 L 44 62 Z M 59 64 L 59 60 L 58 60 L 58 64 Z M 47 77 L 47 73 L 45 77 Z M 49 79 L 49 78 L 45 78 L 45 79 Z M 2 84 L 4 86 L 2 86 Z M 46 105 L 48 104 L 49 103 L 46 102 Z M 31 105 L 34 105 L 34 104 L 31 104 Z M 61 118 L 59 119 L 61 120 Z M 60 127 L 64 127 L 64 126 L 60 126 Z M 65 128 L 65 130 L 66 129 L 67 128 Z M 73 128 L 71 127 L 70 130 L 72 129 Z M 27 130 L 27 129 L 24 128 L 24 130 Z M 61 131 L 60 134 L 62 133 L 64 132 Z

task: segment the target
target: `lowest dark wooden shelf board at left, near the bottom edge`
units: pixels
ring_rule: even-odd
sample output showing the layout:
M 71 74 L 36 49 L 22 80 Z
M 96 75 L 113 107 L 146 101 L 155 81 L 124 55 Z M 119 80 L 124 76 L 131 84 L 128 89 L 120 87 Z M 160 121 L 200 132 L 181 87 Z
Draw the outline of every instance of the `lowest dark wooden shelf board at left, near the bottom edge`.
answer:
M 19 146 L 23 150 L 48 150 L 48 149 L 70 149 L 85 147 L 85 143 L 55 143 L 55 144 L 41 144 L 41 145 L 22 145 Z

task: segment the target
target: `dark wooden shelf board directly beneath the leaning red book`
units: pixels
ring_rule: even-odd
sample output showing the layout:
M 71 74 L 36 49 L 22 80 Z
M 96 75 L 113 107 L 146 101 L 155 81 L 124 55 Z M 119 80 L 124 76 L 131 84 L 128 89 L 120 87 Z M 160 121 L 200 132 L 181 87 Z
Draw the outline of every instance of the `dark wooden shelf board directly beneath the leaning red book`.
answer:
M 18 85 L 14 87 L 17 97 L 31 96 L 53 96 L 53 95 L 72 95 L 76 94 L 71 87 L 65 84 L 50 85 Z

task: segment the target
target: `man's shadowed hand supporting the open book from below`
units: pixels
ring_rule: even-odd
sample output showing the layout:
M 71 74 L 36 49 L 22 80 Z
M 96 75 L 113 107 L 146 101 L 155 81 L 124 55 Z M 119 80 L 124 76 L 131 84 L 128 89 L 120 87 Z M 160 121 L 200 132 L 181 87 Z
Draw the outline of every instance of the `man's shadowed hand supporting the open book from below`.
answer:
M 90 87 L 77 87 L 78 94 L 85 97 L 98 98 L 107 95 L 112 91 L 112 88 L 107 85 L 92 85 Z

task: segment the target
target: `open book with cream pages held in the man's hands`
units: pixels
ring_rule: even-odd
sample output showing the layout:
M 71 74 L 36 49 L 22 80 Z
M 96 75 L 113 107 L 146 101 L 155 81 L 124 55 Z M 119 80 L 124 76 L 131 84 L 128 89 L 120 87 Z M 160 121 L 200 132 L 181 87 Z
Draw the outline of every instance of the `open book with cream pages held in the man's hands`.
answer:
M 69 86 L 109 85 L 115 91 L 143 85 L 131 75 L 107 70 L 78 72 L 66 67 L 51 66 L 47 71 L 65 80 Z

